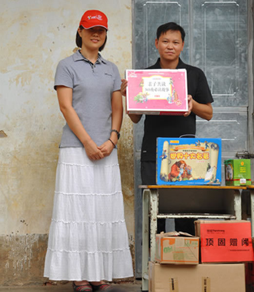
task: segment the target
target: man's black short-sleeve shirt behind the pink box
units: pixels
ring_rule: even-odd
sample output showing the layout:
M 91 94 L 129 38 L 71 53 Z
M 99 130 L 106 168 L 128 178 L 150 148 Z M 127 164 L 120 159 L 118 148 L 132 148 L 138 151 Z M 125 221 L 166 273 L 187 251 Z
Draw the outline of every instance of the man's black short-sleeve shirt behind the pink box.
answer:
M 146 69 L 161 69 L 160 59 L 155 65 Z M 187 65 L 179 58 L 176 69 L 186 69 L 188 94 L 201 104 L 214 101 L 209 89 L 206 76 L 197 67 Z M 191 112 L 188 117 L 174 115 L 146 115 L 144 124 L 144 137 L 141 149 L 141 161 L 156 161 L 157 137 L 180 137 L 185 134 L 195 135 L 196 115 Z

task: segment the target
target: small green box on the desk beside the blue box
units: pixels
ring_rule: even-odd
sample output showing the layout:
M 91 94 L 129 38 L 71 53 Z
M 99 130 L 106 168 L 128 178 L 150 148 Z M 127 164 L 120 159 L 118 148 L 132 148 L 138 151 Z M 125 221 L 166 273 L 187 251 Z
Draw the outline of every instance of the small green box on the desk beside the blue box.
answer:
M 224 165 L 226 185 L 252 184 L 250 159 L 228 159 Z

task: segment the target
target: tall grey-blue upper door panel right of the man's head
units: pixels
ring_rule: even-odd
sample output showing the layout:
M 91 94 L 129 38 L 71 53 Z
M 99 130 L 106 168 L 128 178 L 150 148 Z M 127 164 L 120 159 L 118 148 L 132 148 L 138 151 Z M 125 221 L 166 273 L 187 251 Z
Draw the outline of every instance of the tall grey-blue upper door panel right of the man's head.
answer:
M 247 0 L 194 0 L 194 65 L 207 77 L 214 107 L 247 107 Z

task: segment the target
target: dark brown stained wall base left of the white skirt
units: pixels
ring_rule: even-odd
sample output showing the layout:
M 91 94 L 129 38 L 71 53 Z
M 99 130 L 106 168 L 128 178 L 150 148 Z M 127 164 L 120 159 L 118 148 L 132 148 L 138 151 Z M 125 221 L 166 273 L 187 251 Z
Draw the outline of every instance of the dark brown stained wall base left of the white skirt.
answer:
M 41 285 L 47 234 L 0 236 L 0 286 Z

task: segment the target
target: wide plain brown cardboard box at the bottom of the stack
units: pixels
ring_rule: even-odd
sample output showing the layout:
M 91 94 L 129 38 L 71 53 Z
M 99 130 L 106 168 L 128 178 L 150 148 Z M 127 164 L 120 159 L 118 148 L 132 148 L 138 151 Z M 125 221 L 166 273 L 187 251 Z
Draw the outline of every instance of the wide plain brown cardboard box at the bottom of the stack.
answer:
M 149 292 L 245 292 L 244 264 L 149 262 Z

